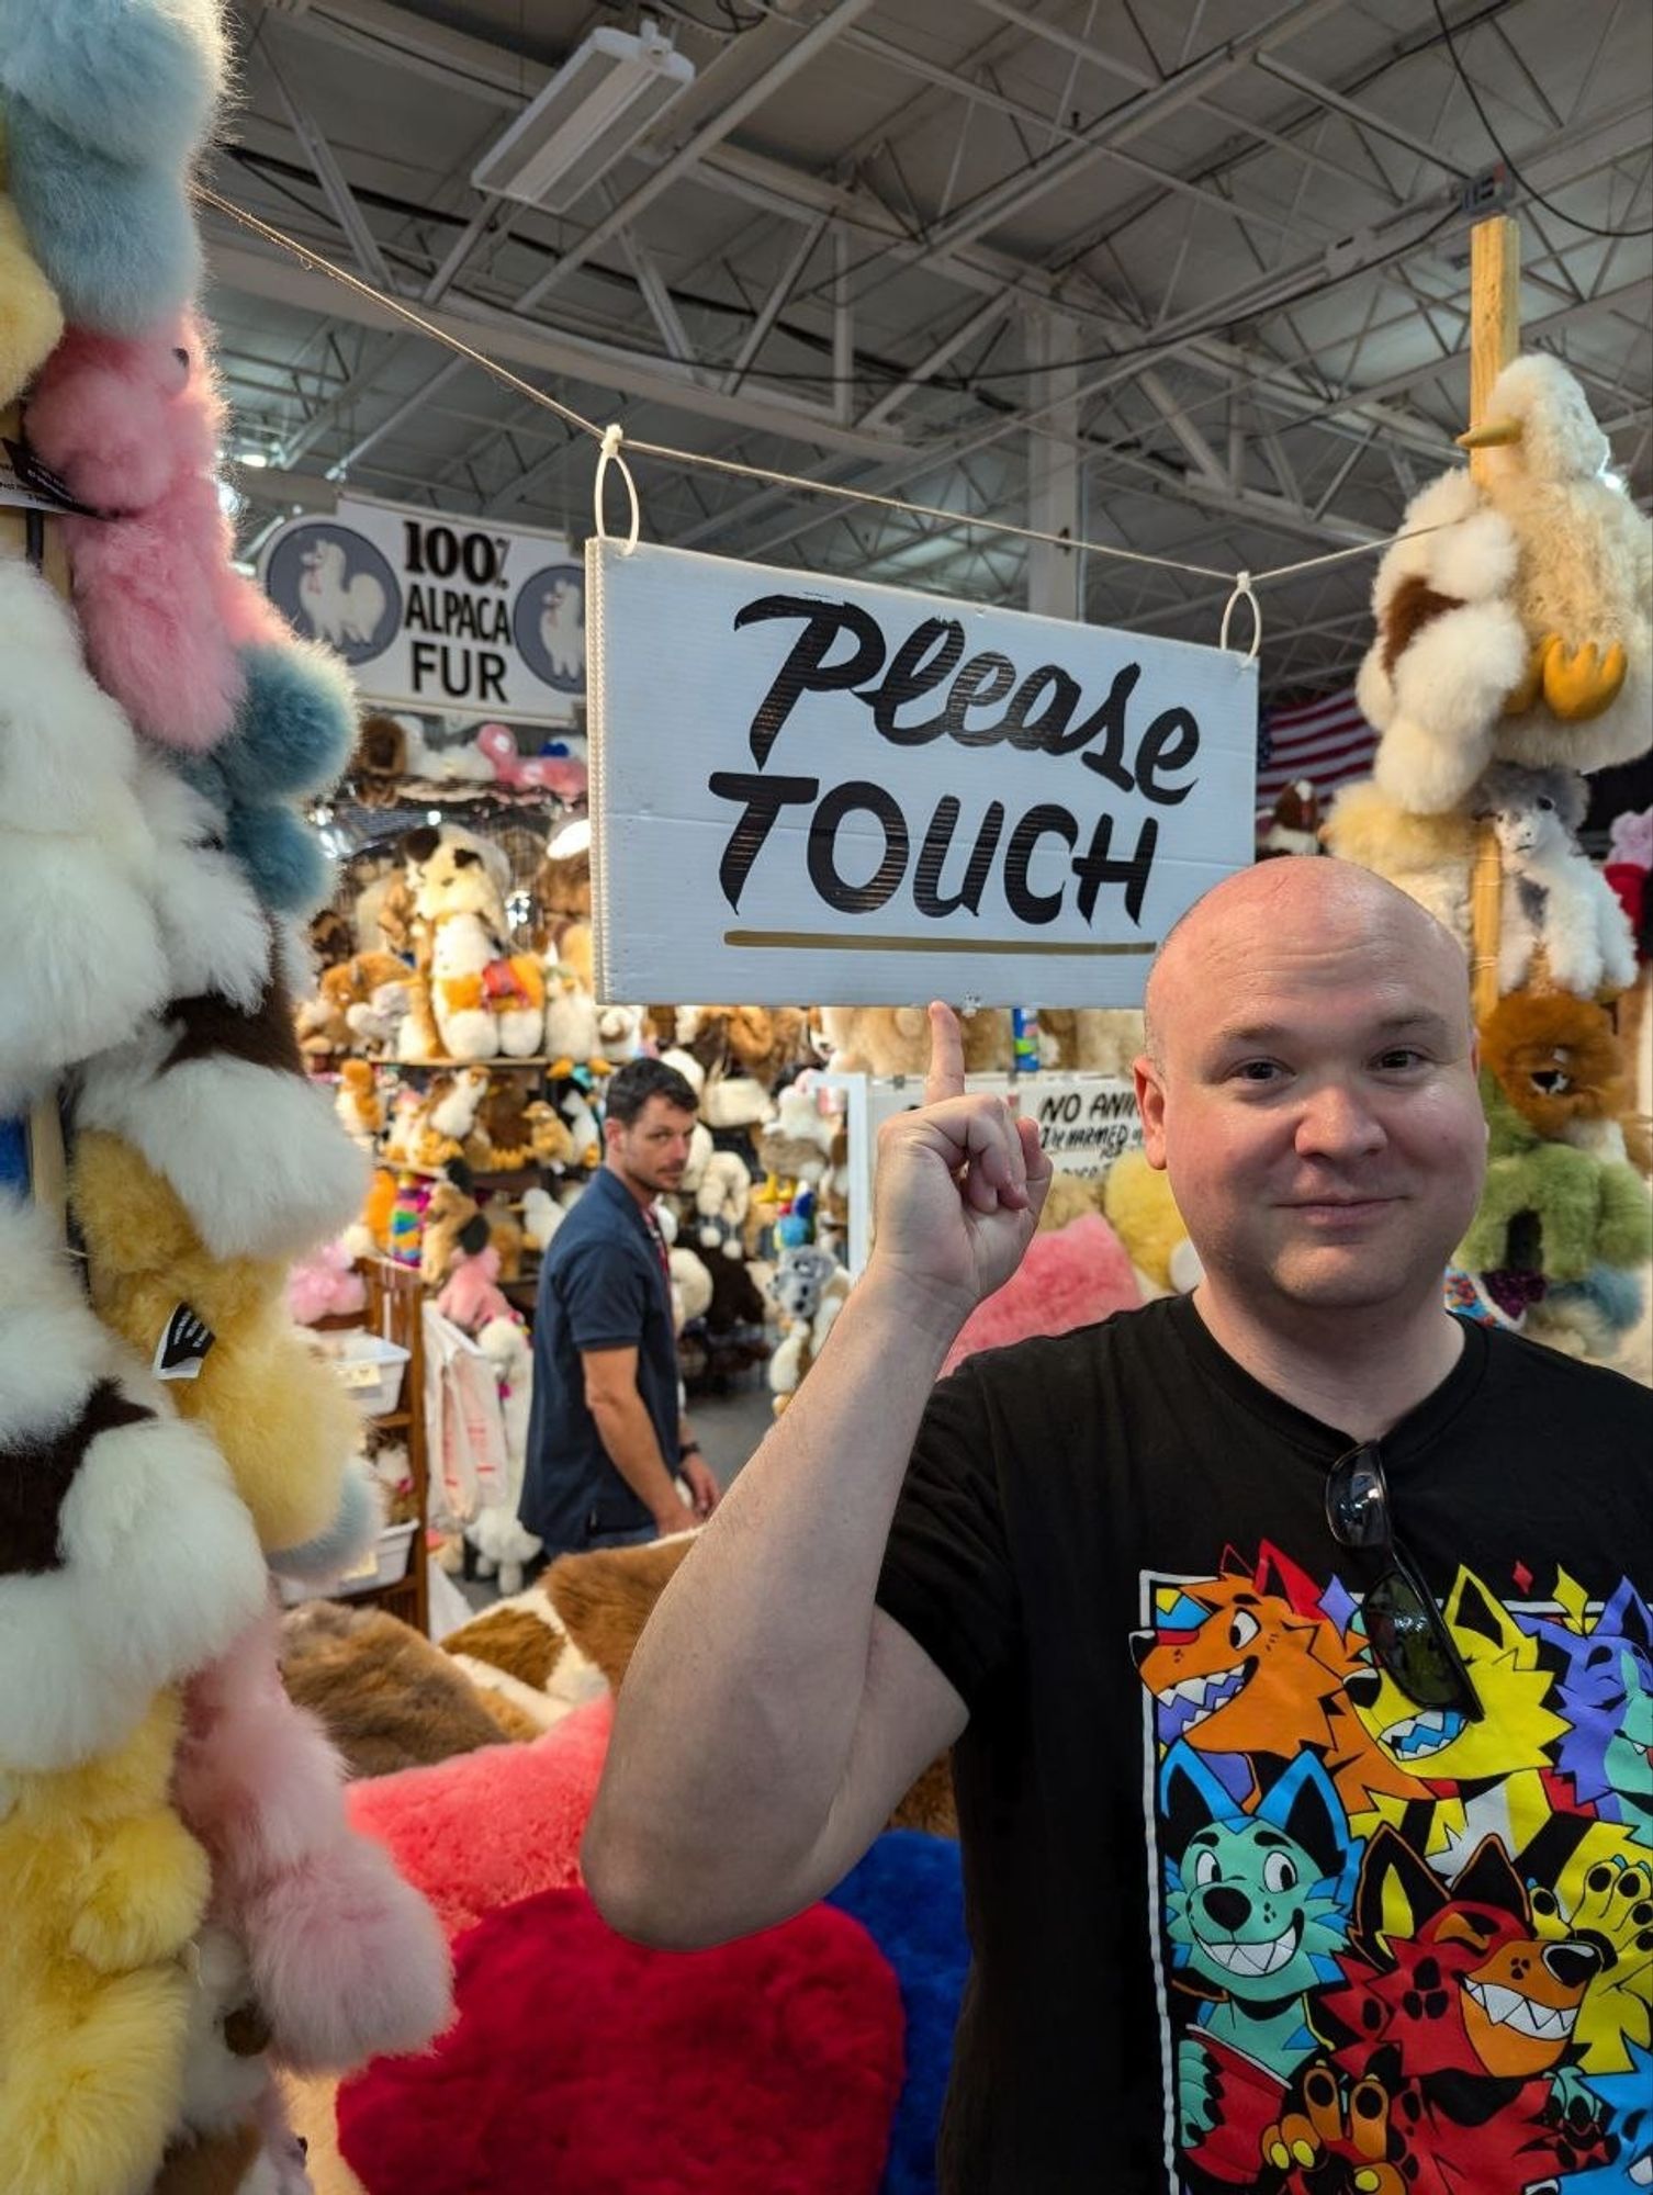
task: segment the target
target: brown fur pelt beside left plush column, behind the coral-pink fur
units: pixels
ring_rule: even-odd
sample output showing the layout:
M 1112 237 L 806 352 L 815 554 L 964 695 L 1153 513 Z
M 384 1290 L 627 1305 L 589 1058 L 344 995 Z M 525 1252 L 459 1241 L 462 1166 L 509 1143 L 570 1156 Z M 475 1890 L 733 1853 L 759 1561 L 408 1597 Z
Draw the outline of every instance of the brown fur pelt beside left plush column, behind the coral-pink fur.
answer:
M 393 1776 L 507 1743 L 470 1677 L 384 1609 L 334 1600 L 292 1609 L 281 1624 L 281 1677 L 351 1776 Z

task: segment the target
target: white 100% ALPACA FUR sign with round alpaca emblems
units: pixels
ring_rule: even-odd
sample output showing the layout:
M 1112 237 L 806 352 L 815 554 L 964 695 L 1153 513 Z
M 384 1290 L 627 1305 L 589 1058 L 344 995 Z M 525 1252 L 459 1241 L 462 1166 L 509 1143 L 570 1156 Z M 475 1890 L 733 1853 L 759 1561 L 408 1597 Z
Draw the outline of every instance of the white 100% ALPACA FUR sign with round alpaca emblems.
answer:
M 292 626 L 386 709 L 569 724 L 586 689 L 586 577 L 558 533 L 340 496 L 259 562 Z

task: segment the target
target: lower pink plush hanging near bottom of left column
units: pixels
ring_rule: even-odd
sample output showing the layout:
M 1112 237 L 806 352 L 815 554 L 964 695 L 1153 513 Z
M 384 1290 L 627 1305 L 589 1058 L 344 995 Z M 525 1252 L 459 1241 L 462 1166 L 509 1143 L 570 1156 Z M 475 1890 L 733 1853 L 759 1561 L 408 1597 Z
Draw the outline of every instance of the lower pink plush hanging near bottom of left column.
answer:
M 189 1686 L 176 1800 L 211 1853 L 213 1903 L 246 1945 L 281 2063 L 338 2072 L 441 2030 L 437 1918 L 349 1828 L 338 1756 L 281 1688 L 274 1611 Z

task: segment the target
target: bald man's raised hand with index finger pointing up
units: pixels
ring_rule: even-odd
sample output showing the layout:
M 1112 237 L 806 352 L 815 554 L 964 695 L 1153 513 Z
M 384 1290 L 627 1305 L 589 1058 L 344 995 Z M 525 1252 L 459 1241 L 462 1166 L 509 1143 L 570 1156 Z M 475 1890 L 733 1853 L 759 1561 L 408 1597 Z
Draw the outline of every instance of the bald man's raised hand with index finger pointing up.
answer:
M 933 1005 L 924 1106 L 878 1133 L 874 1269 L 915 1315 L 962 1326 L 1021 1264 L 1049 1174 L 1034 1122 L 1003 1098 L 966 1098 L 957 1016 Z

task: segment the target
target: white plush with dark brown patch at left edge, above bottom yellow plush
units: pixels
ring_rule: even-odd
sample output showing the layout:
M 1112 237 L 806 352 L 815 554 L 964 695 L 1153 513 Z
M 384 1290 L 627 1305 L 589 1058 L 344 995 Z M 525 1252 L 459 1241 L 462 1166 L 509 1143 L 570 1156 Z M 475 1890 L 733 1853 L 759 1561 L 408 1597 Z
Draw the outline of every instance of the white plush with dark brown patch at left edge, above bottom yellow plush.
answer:
M 66 1769 L 224 1653 L 268 1572 L 224 1457 L 2 1196 L 0 1486 L 0 1767 Z

